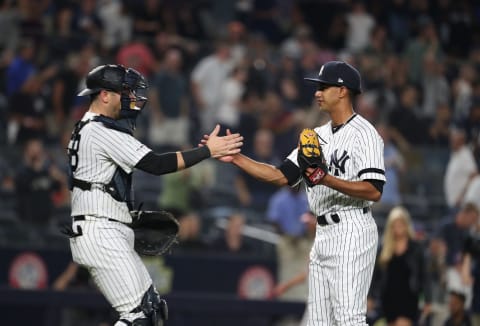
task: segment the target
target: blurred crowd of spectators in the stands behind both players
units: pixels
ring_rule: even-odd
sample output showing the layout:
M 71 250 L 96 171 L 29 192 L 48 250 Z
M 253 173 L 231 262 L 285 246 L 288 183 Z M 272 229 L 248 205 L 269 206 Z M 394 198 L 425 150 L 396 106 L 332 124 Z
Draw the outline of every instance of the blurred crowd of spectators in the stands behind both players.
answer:
M 380 228 L 388 230 L 395 212 L 411 215 L 405 219 L 411 223 L 404 227 L 407 239 L 421 242 L 435 258 L 428 260 L 428 275 L 436 277 L 437 292 L 446 289 L 448 274 L 439 266 L 465 270 L 459 252 L 466 252 L 463 240 L 478 229 L 480 202 L 476 1 L 0 0 L 0 27 L 2 245 L 52 243 L 58 224 L 68 220 L 64 149 L 87 109 L 76 94 L 93 67 L 120 63 L 147 77 L 149 102 L 136 134 L 153 149 L 196 146 L 220 123 L 223 131 L 245 137 L 243 152 L 277 164 L 296 146 L 302 128 L 326 118 L 313 103 L 315 86 L 303 78 L 316 76 L 326 61 L 344 60 L 362 73 L 364 92 L 355 110 L 385 142 L 388 182 L 374 207 Z M 306 204 L 295 191 L 259 183 L 215 161 L 160 178 L 138 173 L 134 180 L 144 207 L 171 209 L 185 222 L 182 237 L 208 233 L 207 240 L 185 240 L 185 247 L 250 252 L 235 234 L 257 223 L 272 226 L 262 231 L 279 235 L 279 246 L 308 252 L 297 241 L 310 239 L 300 219 Z M 406 212 L 396 211 L 398 205 Z M 469 222 L 462 215 L 466 207 Z M 205 216 L 230 217 L 225 229 L 240 232 L 214 239 L 202 226 Z M 457 225 L 458 234 L 449 234 L 452 227 L 442 231 L 448 223 Z M 395 245 L 384 250 L 384 272 L 389 264 L 408 267 L 392 261 Z M 279 259 L 288 255 L 281 251 Z M 478 252 L 470 256 L 470 269 L 478 270 Z M 472 300 L 468 289 L 452 291 L 447 292 L 467 302 L 467 309 L 480 312 L 479 299 Z M 479 292 L 477 285 L 471 293 Z

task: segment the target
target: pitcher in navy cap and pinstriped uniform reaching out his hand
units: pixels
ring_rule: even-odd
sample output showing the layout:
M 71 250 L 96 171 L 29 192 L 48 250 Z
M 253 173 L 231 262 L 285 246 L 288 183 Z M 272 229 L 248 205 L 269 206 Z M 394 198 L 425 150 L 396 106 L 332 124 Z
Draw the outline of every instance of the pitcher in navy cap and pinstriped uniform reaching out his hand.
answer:
M 367 325 L 367 292 L 378 243 L 370 206 L 380 200 L 386 181 L 383 141 L 353 109 L 354 97 L 361 92 L 357 69 L 330 61 L 318 78 L 307 80 L 318 85 L 315 99 L 329 114 L 328 123 L 304 130 L 298 148 L 278 167 L 241 154 L 221 160 L 279 186 L 306 183 L 310 211 L 317 217 L 307 325 Z

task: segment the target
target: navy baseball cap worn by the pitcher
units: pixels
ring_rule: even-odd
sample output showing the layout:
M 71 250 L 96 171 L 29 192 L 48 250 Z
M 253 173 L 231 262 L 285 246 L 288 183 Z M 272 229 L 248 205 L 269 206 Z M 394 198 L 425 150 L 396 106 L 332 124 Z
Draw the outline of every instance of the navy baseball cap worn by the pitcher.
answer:
M 325 85 L 345 86 L 355 94 L 362 92 L 360 73 L 352 65 L 343 61 L 329 61 L 320 68 L 318 78 L 305 78 L 305 80 Z

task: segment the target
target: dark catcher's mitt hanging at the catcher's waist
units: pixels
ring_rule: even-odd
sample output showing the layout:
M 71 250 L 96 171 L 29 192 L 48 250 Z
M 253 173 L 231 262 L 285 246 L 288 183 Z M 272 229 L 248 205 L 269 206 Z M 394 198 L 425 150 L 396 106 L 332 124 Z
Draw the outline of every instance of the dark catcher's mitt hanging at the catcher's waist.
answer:
M 130 227 L 135 232 L 135 251 L 159 256 L 177 242 L 179 224 L 170 212 L 133 211 Z

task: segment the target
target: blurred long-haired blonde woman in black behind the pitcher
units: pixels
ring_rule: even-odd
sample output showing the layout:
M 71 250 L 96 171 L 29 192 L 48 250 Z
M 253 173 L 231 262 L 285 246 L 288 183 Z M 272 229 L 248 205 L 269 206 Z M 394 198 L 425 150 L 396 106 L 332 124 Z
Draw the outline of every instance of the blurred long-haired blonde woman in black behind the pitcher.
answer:
M 377 260 L 374 286 L 388 325 L 414 325 L 419 318 L 423 295 L 423 314 L 430 313 L 425 249 L 415 240 L 408 210 L 394 207 L 387 218 L 382 247 Z

